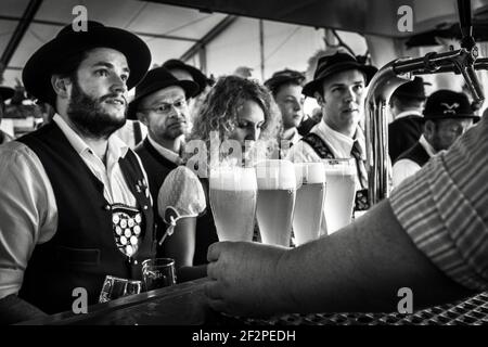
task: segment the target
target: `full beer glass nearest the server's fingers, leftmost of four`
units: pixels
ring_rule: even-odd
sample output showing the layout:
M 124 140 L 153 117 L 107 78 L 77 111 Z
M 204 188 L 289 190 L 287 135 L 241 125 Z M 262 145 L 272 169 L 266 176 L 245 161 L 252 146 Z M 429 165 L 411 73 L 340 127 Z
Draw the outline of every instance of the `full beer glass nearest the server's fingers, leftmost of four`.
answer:
M 254 168 L 210 170 L 210 206 L 219 241 L 253 241 L 257 183 Z

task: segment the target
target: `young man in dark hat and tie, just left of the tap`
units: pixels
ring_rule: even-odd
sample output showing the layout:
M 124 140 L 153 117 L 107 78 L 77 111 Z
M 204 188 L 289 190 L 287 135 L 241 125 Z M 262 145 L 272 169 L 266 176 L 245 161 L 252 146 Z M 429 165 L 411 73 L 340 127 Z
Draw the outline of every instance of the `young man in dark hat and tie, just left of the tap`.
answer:
M 359 126 L 364 88 L 376 69 L 359 63 L 355 56 L 337 52 L 322 56 L 313 80 L 303 93 L 314 98 L 322 108 L 322 121 L 294 145 L 288 158 L 296 163 L 325 158 L 354 158 L 357 168 L 356 210 L 368 209 L 364 134 Z

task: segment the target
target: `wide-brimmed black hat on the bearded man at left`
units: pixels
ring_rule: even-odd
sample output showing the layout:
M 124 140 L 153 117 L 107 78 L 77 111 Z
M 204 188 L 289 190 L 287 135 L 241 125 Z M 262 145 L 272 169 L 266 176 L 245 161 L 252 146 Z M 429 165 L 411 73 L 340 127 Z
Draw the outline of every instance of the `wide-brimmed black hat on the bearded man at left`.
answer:
M 57 36 L 38 49 L 22 72 L 25 89 L 39 101 L 52 102 L 55 98 L 51 75 L 69 57 L 93 48 L 111 48 L 123 53 L 130 68 L 127 88 L 134 87 L 151 64 L 147 44 L 138 36 L 101 23 L 88 21 L 87 31 L 74 31 L 65 26 Z

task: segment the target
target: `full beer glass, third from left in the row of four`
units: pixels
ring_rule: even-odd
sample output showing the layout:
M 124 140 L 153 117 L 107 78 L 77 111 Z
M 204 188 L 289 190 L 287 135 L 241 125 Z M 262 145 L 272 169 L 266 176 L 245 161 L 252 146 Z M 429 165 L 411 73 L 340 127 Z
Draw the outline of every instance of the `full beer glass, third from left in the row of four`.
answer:
M 295 244 L 301 245 L 320 235 L 325 197 L 325 170 L 322 163 L 296 163 L 296 203 L 293 217 Z

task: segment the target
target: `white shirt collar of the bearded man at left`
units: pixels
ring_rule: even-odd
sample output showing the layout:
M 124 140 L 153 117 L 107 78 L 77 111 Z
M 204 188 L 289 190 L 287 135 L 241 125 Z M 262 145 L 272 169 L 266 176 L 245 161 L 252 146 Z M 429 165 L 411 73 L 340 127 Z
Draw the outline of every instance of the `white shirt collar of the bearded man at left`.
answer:
M 73 128 L 59 114 L 55 114 L 52 120 L 60 127 L 61 131 L 79 155 L 87 151 L 94 153 L 87 142 L 85 142 L 85 140 L 81 139 L 81 137 L 76 133 L 76 131 L 73 130 Z M 117 162 L 120 157 L 126 156 L 127 151 L 129 151 L 129 146 L 123 140 L 120 140 L 115 133 L 110 136 L 107 146 L 107 155 L 110 157 L 113 157 Z

